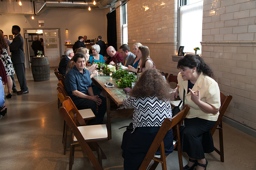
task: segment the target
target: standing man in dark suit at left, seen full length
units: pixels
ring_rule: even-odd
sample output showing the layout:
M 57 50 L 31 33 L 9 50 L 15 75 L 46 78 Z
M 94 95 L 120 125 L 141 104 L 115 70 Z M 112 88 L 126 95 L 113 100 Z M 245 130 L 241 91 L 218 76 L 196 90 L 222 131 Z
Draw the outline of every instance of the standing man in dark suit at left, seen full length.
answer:
M 28 87 L 25 76 L 24 40 L 19 32 L 19 26 L 12 26 L 12 34 L 15 35 L 15 38 L 12 40 L 9 49 L 12 53 L 12 63 L 20 85 L 20 91 L 17 92 L 17 95 L 23 95 L 28 93 Z

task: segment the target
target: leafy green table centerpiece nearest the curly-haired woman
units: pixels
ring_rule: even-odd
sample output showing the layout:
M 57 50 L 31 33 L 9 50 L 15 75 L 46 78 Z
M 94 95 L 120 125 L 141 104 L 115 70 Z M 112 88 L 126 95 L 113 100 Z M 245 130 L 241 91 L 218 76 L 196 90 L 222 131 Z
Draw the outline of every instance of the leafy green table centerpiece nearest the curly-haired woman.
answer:
M 112 77 L 117 78 L 116 84 L 118 88 L 131 87 L 131 83 L 137 80 L 134 73 L 129 74 L 126 70 L 117 70 L 112 74 Z

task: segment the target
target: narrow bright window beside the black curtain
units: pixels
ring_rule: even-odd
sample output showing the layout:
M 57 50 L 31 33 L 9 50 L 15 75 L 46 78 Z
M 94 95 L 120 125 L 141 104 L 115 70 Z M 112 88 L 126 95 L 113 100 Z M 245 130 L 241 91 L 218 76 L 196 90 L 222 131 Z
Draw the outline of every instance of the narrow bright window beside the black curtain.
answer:
M 127 29 L 127 3 L 126 0 L 122 1 L 124 3 L 121 6 L 122 9 L 122 33 L 123 33 L 123 44 L 128 44 L 128 29 Z

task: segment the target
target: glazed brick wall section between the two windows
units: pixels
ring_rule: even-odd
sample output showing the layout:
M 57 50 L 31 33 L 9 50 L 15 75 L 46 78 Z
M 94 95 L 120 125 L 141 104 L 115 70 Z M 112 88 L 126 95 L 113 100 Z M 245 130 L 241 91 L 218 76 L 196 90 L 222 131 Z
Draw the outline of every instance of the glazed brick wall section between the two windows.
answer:
M 127 2 L 127 19 L 130 48 L 136 42 L 148 46 L 156 68 L 172 73 L 171 55 L 176 53 L 177 44 L 177 2 L 130 0 Z

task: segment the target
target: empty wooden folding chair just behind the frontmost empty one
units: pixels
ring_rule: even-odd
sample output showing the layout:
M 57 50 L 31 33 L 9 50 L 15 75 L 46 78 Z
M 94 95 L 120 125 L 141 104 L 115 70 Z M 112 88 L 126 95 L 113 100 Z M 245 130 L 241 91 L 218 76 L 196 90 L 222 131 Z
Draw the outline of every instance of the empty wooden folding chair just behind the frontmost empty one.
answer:
M 57 92 L 58 92 L 58 99 L 60 100 L 61 103 L 63 103 L 68 98 L 70 98 L 69 96 L 65 95 L 65 92 L 63 92 L 60 87 L 57 87 Z M 77 110 L 77 108 L 72 100 L 71 100 L 71 103 L 72 103 L 74 109 Z M 91 109 L 80 110 L 80 114 L 84 120 L 95 119 L 95 115 Z M 66 149 L 67 149 L 67 134 L 68 134 L 68 126 L 66 126 L 66 121 L 64 120 L 63 135 L 62 135 L 62 143 L 64 146 L 64 153 L 63 153 L 64 155 L 66 155 Z

